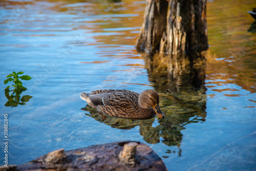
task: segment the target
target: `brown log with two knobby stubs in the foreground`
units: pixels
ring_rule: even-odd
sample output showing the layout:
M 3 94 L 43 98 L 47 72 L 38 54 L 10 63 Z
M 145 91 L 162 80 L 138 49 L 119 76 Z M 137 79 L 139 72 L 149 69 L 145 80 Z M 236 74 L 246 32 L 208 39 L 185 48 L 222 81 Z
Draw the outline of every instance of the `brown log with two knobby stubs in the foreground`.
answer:
M 58 149 L 22 165 L 0 170 L 167 170 L 148 145 L 121 141 L 65 152 Z

